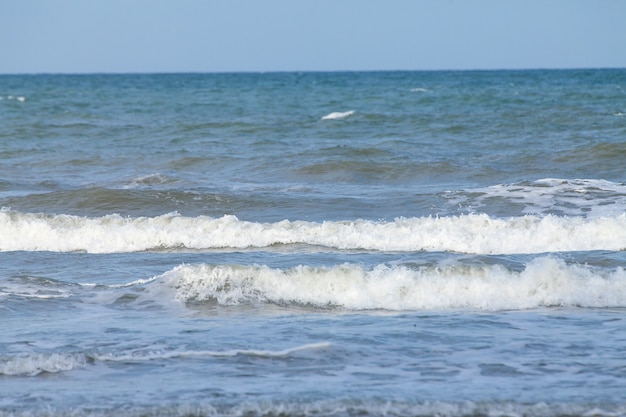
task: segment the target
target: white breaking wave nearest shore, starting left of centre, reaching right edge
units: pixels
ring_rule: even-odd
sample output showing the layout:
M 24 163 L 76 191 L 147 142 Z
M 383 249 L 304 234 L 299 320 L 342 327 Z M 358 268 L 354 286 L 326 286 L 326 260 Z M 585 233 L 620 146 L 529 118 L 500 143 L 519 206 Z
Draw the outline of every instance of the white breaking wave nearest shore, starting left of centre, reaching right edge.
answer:
M 542 306 L 624 307 L 626 273 L 567 265 L 553 257 L 531 261 L 521 272 L 500 265 L 412 269 L 379 265 L 371 270 L 336 267 L 182 265 L 162 276 L 181 302 L 233 305 L 276 303 L 350 310 L 469 308 L 529 309 Z M 162 288 L 155 295 L 165 294 Z M 150 296 L 151 290 L 147 294 Z

